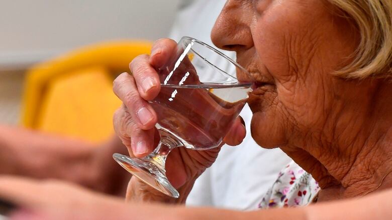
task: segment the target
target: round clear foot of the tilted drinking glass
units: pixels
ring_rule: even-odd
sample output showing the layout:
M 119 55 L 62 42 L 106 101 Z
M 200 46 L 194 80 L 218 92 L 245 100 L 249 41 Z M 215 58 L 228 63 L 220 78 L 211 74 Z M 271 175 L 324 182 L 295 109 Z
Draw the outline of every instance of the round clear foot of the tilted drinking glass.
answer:
M 144 158 L 130 158 L 119 153 L 113 154 L 113 158 L 124 167 L 124 169 L 151 187 L 168 196 L 174 198 L 179 197 L 178 191 L 170 184 L 165 176 L 165 172 L 150 161 Z

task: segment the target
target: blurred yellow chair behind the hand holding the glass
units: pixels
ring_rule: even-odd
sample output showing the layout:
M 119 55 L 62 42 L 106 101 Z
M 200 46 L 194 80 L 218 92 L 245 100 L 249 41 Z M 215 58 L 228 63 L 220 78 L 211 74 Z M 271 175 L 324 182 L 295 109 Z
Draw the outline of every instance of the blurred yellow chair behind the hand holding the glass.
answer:
M 33 67 L 25 81 L 22 124 L 91 142 L 106 140 L 114 133 L 112 116 L 121 105 L 113 79 L 150 49 L 150 42 L 102 43 Z

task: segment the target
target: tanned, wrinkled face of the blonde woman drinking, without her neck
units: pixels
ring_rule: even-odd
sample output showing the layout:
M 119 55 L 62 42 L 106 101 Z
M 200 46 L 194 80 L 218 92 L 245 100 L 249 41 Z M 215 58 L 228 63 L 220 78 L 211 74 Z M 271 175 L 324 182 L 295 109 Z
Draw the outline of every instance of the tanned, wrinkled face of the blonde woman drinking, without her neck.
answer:
M 253 75 L 251 132 L 263 147 L 300 141 L 330 126 L 337 100 L 350 99 L 332 76 L 358 44 L 354 29 L 322 0 L 229 0 L 212 31 Z M 239 76 L 239 78 L 244 76 Z M 355 92 L 352 92 L 355 95 Z

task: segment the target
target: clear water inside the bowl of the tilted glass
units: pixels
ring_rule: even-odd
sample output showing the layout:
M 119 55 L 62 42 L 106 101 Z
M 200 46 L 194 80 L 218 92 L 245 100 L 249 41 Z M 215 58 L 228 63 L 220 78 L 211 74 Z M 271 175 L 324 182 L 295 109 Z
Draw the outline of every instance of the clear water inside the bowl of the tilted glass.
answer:
M 185 147 L 210 149 L 222 143 L 242 110 L 251 84 L 161 85 L 151 105 L 160 127 Z

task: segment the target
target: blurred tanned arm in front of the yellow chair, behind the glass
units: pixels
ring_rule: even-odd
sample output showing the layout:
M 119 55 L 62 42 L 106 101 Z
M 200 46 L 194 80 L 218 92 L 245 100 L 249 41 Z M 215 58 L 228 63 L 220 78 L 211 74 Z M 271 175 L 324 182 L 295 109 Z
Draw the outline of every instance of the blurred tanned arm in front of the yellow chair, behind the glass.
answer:
M 118 138 L 95 146 L 80 140 L 0 126 L 0 174 L 57 178 L 107 193 L 125 193 L 129 174 L 112 158 Z

